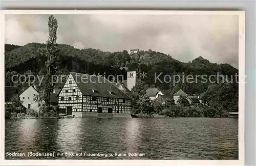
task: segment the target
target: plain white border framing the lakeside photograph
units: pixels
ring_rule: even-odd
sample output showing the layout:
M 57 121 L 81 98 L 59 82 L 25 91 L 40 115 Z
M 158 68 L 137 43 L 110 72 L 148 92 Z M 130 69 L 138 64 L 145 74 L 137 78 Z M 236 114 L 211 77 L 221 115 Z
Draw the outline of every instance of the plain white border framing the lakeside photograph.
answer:
M 4 121 L 4 44 L 5 14 L 151 14 L 151 15 L 238 15 L 239 16 L 239 159 L 238 160 L 5 160 Z M 1 165 L 244 165 L 244 103 L 245 103 L 245 12 L 244 11 L 139 11 L 139 10 L 1 10 Z M 241 81 L 243 80 L 243 81 Z

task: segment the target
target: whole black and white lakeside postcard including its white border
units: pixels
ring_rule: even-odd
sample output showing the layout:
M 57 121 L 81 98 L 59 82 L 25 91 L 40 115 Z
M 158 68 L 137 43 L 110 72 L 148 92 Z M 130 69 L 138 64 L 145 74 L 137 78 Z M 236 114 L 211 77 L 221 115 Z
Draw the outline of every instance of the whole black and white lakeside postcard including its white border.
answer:
M 243 160 L 243 11 L 60 12 L 3 14 L 5 160 Z

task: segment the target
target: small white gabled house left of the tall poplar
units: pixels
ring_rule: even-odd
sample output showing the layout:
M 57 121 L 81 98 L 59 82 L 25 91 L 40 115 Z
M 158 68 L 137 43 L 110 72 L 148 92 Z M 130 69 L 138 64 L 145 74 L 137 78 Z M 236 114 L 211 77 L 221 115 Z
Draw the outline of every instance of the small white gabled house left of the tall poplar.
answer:
M 19 95 L 19 98 L 23 101 L 23 106 L 27 109 L 33 109 L 35 112 L 39 112 L 38 103 L 34 101 L 35 95 L 39 95 L 36 87 L 30 86 Z

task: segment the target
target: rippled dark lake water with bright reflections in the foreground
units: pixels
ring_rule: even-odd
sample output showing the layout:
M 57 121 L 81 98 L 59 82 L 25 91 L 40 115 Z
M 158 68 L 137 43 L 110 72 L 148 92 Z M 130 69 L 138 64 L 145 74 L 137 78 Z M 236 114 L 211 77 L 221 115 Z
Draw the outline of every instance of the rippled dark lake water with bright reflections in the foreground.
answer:
M 25 153 L 5 159 L 238 159 L 238 119 L 6 120 L 5 152 Z M 28 152 L 54 152 L 54 157 L 28 157 Z M 88 156 L 85 152 L 108 156 Z

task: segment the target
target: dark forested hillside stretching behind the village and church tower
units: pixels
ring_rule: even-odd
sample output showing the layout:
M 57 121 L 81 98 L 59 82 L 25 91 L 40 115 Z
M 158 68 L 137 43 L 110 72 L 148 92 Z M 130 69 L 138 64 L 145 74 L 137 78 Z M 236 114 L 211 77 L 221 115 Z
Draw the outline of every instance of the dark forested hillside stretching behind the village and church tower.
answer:
M 180 84 L 172 87 L 169 83 L 157 82 L 155 84 L 155 73 L 163 73 L 160 78 L 163 79 L 165 74 L 174 75 L 203 75 L 203 74 L 220 74 L 235 75 L 238 69 L 228 64 L 210 63 L 208 60 L 199 57 L 191 62 L 184 63 L 173 59 L 171 56 L 156 52 L 153 50 L 139 51 L 137 54 L 129 55 L 126 50 L 118 52 L 104 52 L 100 49 L 77 49 L 67 44 L 58 44 L 59 57 L 61 66 L 58 73 L 80 72 L 80 73 L 100 73 L 105 75 L 124 74 L 125 69 L 132 63 L 139 65 L 138 72 L 146 72 L 147 77 L 142 79 L 151 87 L 171 90 L 181 88 L 188 94 L 200 94 L 207 90 L 209 84 Z M 7 86 L 12 86 L 10 76 L 14 73 L 36 75 L 45 74 L 45 56 L 46 46 L 40 43 L 29 43 L 24 46 L 5 45 L 5 72 Z M 59 85 L 60 86 L 60 85 Z

